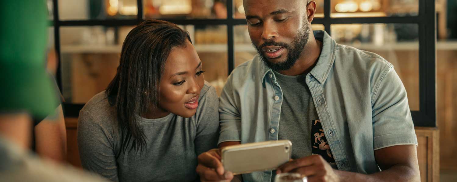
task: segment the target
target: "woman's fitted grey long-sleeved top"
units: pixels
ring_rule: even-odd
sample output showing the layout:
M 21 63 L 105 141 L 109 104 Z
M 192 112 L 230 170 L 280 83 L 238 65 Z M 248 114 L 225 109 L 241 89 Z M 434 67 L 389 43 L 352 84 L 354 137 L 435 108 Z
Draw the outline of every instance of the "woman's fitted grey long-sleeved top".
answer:
M 105 92 L 90 99 L 80 111 L 78 147 L 82 166 L 121 182 L 189 182 L 199 178 L 197 156 L 216 148 L 219 135 L 218 95 L 213 86 L 202 88 L 197 113 L 183 118 L 170 113 L 143 118 L 147 147 L 141 154 L 124 153 L 115 108 Z

